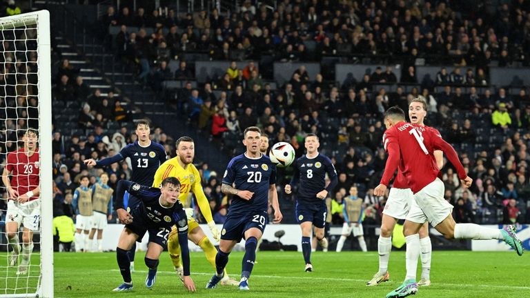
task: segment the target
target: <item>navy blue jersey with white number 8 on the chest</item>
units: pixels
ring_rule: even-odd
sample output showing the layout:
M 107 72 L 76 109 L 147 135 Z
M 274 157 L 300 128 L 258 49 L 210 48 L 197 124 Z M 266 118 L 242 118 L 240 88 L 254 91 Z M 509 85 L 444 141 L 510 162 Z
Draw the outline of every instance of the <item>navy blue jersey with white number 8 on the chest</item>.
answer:
M 302 155 L 295 161 L 293 168 L 293 179 L 290 184 L 294 187 L 300 179 L 297 200 L 301 202 L 322 202 L 322 199 L 317 198 L 317 193 L 326 189 L 326 173 L 331 181 L 337 177 L 337 171 L 331 160 L 320 153 L 312 159 Z

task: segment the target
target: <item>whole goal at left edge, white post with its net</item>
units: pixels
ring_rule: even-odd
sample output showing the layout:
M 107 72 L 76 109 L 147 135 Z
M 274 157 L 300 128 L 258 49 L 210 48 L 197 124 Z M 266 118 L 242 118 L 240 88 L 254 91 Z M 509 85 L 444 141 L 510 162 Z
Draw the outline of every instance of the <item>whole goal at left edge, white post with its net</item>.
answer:
M 50 15 L 0 30 L 0 297 L 53 297 Z

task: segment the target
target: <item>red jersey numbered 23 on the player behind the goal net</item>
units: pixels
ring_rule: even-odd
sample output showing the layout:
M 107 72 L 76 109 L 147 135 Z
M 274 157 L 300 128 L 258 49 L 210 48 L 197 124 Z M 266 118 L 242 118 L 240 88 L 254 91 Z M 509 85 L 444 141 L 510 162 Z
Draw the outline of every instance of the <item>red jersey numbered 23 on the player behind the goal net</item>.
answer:
M 30 190 L 39 186 L 39 150 L 35 151 L 30 157 L 21 148 L 8 154 L 6 169 L 11 172 L 11 187 L 19 192 L 19 196 L 24 195 Z M 8 200 L 15 198 L 8 198 Z M 39 197 L 30 197 L 29 201 L 39 199 Z

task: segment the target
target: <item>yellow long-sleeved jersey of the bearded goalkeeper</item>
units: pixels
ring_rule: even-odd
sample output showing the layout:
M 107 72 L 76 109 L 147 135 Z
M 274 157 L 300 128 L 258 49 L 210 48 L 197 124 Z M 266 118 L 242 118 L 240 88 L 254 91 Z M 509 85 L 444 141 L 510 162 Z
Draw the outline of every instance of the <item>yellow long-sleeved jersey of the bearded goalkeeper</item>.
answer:
M 210 203 L 204 195 L 201 185 L 201 176 L 199 171 L 192 163 L 188 164 L 186 168 L 182 168 L 178 161 L 179 157 L 173 157 L 168 159 L 166 162 L 162 163 L 159 166 L 157 172 L 155 173 L 155 181 L 153 182 L 153 187 L 159 187 L 160 183 L 167 177 L 176 177 L 180 181 L 180 195 L 179 200 L 184 204 L 184 206 L 189 206 L 186 204 L 188 199 L 188 194 L 193 192 L 195 198 L 197 199 L 197 204 L 201 210 L 202 216 L 206 219 L 206 222 L 213 221 L 212 211 L 210 210 Z

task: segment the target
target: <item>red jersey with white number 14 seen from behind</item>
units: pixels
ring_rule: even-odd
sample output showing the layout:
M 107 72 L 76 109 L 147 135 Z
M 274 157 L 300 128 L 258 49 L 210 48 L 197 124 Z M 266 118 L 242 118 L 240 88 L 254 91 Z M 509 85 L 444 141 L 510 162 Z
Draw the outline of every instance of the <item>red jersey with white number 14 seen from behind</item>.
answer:
M 419 192 L 438 177 L 434 150 L 442 150 L 455 166 L 460 179 L 467 177 L 464 166 L 449 143 L 435 128 L 400 121 L 386 130 L 384 148 L 389 152 L 381 183 L 388 186 L 396 168 L 402 170 L 413 193 Z

